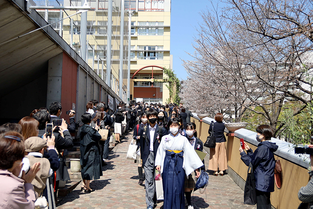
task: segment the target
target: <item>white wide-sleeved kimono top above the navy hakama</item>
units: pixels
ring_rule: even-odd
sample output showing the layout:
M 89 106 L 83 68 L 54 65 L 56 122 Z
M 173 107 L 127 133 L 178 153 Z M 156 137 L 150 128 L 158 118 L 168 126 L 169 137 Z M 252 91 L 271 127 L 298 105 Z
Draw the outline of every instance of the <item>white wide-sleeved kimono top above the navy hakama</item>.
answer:
M 198 154 L 189 143 L 188 139 L 178 133 L 175 137 L 171 134 L 162 137 L 161 143 L 156 153 L 154 165 L 161 166 L 161 173 L 163 173 L 163 164 L 166 150 L 182 150 L 184 151 L 183 169 L 188 176 L 197 168 L 203 166 Z

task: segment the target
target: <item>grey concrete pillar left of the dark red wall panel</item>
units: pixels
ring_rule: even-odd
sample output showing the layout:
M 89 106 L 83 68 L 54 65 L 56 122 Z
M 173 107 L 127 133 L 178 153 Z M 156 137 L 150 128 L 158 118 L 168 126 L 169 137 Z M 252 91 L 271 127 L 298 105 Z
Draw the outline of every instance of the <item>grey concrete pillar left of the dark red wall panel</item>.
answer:
M 63 53 L 48 61 L 47 107 L 52 102 L 61 102 Z

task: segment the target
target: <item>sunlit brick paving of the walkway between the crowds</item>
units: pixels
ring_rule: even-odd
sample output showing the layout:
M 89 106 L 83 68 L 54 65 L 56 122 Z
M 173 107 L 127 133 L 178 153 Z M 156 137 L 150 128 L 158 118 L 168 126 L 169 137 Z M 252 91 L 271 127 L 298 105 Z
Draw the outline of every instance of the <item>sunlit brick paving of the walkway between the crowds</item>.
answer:
M 146 208 L 144 185 L 138 185 L 137 165 L 134 161 L 126 159 L 131 136 L 132 132 L 110 152 L 108 165 L 102 167 L 103 176 L 90 183 L 90 187 L 95 191 L 84 193 L 80 191 L 80 184 L 59 203 L 57 208 Z M 208 156 L 204 160 L 208 166 Z M 244 205 L 243 196 L 244 192 L 228 175 L 209 175 L 206 192 L 200 194 L 199 191 L 195 191 L 192 205 L 195 209 L 197 207 L 212 209 L 256 208 L 256 206 Z M 162 208 L 162 205 L 163 202 L 158 201 L 156 208 Z

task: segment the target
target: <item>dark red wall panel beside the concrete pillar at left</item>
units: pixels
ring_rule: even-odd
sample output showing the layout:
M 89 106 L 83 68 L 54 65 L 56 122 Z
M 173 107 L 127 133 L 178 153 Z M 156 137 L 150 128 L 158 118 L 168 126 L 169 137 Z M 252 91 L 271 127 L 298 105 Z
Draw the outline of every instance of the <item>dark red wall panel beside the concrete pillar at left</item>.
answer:
M 72 109 L 72 103 L 76 104 L 76 85 L 77 64 L 63 52 L 61 104 L 62 118 L 67 122 L 69 122 L 69 115 L 66 115 L 66 111 Z

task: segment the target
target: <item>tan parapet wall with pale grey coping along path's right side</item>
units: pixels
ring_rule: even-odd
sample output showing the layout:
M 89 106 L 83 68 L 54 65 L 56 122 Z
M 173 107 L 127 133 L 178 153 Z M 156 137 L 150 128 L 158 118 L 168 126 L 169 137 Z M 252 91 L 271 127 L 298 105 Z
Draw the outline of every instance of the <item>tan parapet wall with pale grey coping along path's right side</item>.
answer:
M 201 141 L 205 142 L 208 134 L 209 123 L 213 119 L 203 118 L 203 121 L 199 121 L 200 118 L 194 114 L 191 121 L 196 124 L 198 136 L 200 135 Z M 255 139 L 255 132 L 239 129 L 235 131 L 234 136 L 228 136 L 228 130 L 224 132 L 226 136 L 226 152 L 228 161 L 228 175 L 244 190 L 245 180 L 247 178 L 248 167 L 242 162 L 239 154 L 240 141 L 239 138 L 244 138 L 244 141 L 248 143 L 249 147 L 253 150 L 257 148 L 258 142 Z M 298 191 L 302 186 L 307 185 L 309 181 L 309 174 L 307 167 L 309 163 L 307 160 L 303 160 L 303 156 L 299 157 L 294 154 L 293 149 L 290 147 L 292 144 L 280 141 L 272 138 L 272 142 L 275 142 L 279 148 L 274 153 L 275 159 L 280 159 L 280 163 L 283 169 L 283 183 L 281 189 L 275 186 L 275 191 L 271 193 L 272 206 L 279 209 L 296 209 L 300 201 L 298 199 Z M 208 153 L 209 149 L 205 148 Z M 205 162 L 208 166 L 208 162 Z M 244 198 L 244 197 L 242 197 Z

